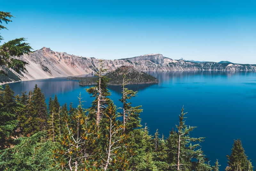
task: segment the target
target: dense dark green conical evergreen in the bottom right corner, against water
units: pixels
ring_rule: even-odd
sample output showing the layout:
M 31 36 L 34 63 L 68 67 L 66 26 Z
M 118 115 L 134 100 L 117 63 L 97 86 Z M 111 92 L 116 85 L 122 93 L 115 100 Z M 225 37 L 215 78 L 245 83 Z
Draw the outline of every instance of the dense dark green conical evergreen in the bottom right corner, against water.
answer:
M 247 160 L 247 156 L 244 153 L 244 148 L 240 139 L 234 140 L 233 148 L 231 149 L 230 156 L 228 158 L 228 166 L 226 171 L 252 171 L 252 163 Z

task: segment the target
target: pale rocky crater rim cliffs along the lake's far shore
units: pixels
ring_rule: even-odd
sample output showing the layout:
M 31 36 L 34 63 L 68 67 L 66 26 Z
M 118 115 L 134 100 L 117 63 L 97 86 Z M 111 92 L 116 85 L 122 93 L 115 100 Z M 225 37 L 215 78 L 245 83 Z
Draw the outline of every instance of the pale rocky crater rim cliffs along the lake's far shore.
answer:
M 74 56 L 66 52 L 54 52 L 50 48 L 45 47 L 29 55 L 20 56 L 18 59 L 29 63 L 29 65 L 26 65 L 28 71 L 22 72 L 24 77 L 19 75 L 22 80 L 95 73 L 100 63 L 100 59 Z M 140 71 L 256 71 L 256 65 L 215 62 L 193 63 L 183 60 L 172 60 L 161 54 L 103 60 L 102 63 L 108 71 L 113 71 L 122 65 L 133 66 Z

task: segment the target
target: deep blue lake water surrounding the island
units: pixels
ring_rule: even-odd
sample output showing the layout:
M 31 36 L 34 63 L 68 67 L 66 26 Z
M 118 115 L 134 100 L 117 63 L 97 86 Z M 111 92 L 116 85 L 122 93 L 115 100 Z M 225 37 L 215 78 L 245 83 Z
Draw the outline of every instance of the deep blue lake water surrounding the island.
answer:
M 138 91 L 133 106 L 142 105 L 142 125 L 147 123 L 150 134 L 156 129 L 168 137 L 172 127 L 178 124 L 180 109 L 184 105 L 186 124 L 196 126 L 192 137 L 206 137 L 201 143 L 204 154 L 220 162 L 220 169 L 227 166 L 234 139 L 240 138 L 252 165 L 256 167 L 256 73 L 235 71 L 171 71 L 148 72 L 159 79 L 155 85 L 129 85 Z M 51 78 L 22 81 L 9 84 L 16 94 L 32 90 L 37 84 L 48 102 L 57 94 L 60 104 L 77 106 L 79 93 L 84 98 L 84 108 L 91 105 L 90 95 L 78 85 L 78 81 Z M 111 99 L 121 107 L 120 86 L 109 86 Z

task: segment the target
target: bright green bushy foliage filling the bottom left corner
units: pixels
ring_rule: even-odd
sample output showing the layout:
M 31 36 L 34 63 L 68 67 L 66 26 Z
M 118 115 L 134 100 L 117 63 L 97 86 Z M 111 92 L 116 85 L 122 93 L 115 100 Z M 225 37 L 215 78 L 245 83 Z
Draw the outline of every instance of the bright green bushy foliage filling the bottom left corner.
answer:
M 1 151 L 0 170 L 60 170 L 53 153 L 58 144 L 50 139 L 46 140 L 45 133 L 38 132 L 29 138 L 21 137 L 17 141 L 18 145 Z

